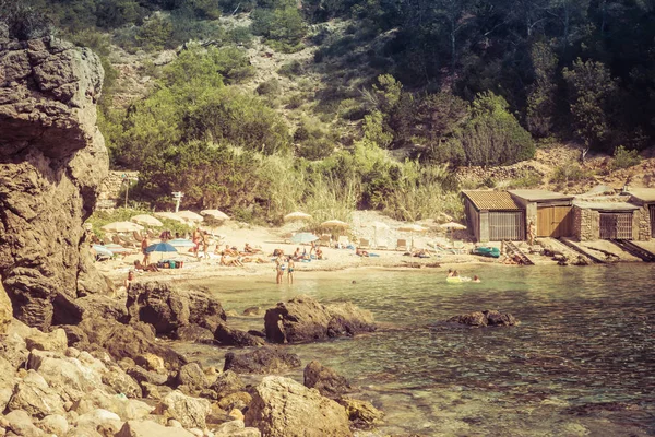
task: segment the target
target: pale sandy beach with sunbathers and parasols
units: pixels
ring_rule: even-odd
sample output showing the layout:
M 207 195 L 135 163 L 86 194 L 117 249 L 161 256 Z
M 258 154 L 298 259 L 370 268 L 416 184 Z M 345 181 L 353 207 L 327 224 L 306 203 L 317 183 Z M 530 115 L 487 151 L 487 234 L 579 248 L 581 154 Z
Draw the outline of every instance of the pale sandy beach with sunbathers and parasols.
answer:
M 371 228 L 372 222 L 385 223 L 389 228 L 384 232 Z M 462 263 L 498 263 L 498 260 L 477 257 L 468 253 L 434 253 L 431 251 L 430 258 L 418 258 L 406 255 L 405 250 L 395 250 L 397 239 L 406 239 L 410 245 L 414 241 L 415 248 L 425 248 L 430 250 L 430 243 L 436 238 L 444 239 L 443 231 L 434 223 L 420 223 L 426 226 L 428 232 L 420 235 L 412 235 L 410 233 L 400 232 L 396 228 L 403 224 L 392 218 L 382 216 L 377 212 L 361 211 L 354 215 L 353 225 L 347 232 L 350 240 L 359 240 L 366 238 L 370 241 L 384 241 L 388 245 L 386 249 L 368 249 L 369 257 L 360 257 L 355 253 L 354 249 L 336 249 L 334 247 L 322 246 L 322 260 L 312 259 L 311 261 L 296 262 L 296 271 L 298 275 L 302 272 L 331 272 L 342 271 L 346 269 L 430 269 L 430 268 L 448 268 L 449 264 Z M 196 258 L 188 249 L 179 249 L 178 253 L 153 253 L 151 262 L 157 262 L 165 259 L 175 259 L 183 261 L 181 269 L 160 269 L 159 272 L 138 272 L 138 277 L 154 280 L 198 280 L 214 276 L 231 276 L 231 277 L 249 277 L 249 276 L 270 276 L 271 281 L 275 281 L 275 263 L 272 261 L 272 256 L 275 249 L 284 250 L 285 255 L 291 255 L 296 248 L 300 251 L 309 251 L 309 245 L 291 244 L 288 237 L 302 228 L 301 223 L 289 223 L 282 227 L 269 228 L 262 226 L 252 226 L 243 223 L 227 222 L 226 224 L 209 229 L 214 235 L 210 245 L 210 258 L 201 256 Z M 381 235 L 383 234 L 383 235 Z M 157 243 L 151 241 L 151 243 Z M 393 244 L 391 243 L 393 241 Z M 249 262 L 243 267 L 225 267 L 221 265 L 219 256 L 214 255 L 216 245 L 221 247 L 229 245 L 242 250 L 246 244 L 261 249 L 263 255 L 257 255 L 250 258 L 261 258 L 263 263 Z M 473 247 L 472 244 L 466 246 Z M 468 250 L 466 250 L 468 251 Z M 107 261 L 97 262 L 96 265 L 105 275 L 112 280 L 117 285 L 126 277 L 127 273 L 133 269 L 135 260 L 142 260 L 143 256 L 134 249 L 134 252 L 124 257 L 118 257 Z

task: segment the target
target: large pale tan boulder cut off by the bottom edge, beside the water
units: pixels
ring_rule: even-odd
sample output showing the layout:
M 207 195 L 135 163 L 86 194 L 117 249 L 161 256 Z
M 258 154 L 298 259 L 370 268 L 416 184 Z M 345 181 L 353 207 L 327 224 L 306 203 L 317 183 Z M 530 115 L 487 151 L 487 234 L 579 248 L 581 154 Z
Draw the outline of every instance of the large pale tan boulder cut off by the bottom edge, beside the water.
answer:
M 353 435 L 342 405 L 278 376 L 264 377 L 255 387 L 245 422 L 267 437 Z

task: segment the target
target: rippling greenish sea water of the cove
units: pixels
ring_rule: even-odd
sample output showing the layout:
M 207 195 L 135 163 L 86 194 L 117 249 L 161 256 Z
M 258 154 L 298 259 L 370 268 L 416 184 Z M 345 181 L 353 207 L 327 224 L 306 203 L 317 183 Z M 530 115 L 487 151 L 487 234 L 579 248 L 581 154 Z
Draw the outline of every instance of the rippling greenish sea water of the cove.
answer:
M 226 309 L 269 308 L 297 294 L 350 300 L 381 323 L 355 339 L 287 346 L 348 377 L 386 413 L 381 435 L 655 434 L 655 268 L 476 267 L 483 283 L 448 284 L 440 269 L 333 272 L 295 285 L 203 282 Z M 322 275 L 323 276 L 323 275 Z M 272 280 L 274 280 L 272 277 Z M 352 283 L 353 281 L 356 283 Z M 514 328 L 452 329 L 478 309 Z M 236 318 L 262 329 L 262 319 Z M 222 366 L 211 346 L 193 346 Z M 302 380 L 301 369 L 290 375 Z

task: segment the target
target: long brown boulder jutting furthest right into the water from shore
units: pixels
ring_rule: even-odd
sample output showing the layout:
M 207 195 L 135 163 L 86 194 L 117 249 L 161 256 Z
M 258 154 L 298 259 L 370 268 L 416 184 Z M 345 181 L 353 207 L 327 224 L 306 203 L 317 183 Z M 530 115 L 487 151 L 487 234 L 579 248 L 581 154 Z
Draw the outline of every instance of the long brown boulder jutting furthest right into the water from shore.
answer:
M 266 339 L 298 343 L 376 330 L 370 311 L 350 303 L 323 305 L 308 296 L 278 303 L 264 316 Z

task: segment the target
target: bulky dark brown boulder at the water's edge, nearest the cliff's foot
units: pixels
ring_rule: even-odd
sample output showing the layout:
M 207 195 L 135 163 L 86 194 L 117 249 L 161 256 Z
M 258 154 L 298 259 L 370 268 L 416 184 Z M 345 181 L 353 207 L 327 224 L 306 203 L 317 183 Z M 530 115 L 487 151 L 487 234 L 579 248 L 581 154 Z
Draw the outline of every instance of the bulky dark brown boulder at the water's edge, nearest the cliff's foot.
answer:
M 131 321 L 152 324 L 157 334 L 172 335 L 190 324 L 214 332 L 227 318 L 221 303 L 201 291 L 182 291 L 166 282 L 134 284 L 128 296 Z

